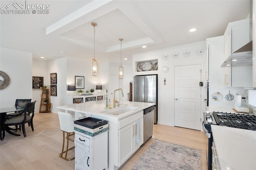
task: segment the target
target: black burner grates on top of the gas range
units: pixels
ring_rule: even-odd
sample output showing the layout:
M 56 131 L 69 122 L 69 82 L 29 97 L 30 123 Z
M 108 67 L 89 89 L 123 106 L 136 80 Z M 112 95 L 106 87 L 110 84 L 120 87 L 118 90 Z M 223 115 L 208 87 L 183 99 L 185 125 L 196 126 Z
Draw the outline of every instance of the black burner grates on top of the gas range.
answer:
M 213 112 L 217 125 L 256 130 L 256 116 L 236 113 Z

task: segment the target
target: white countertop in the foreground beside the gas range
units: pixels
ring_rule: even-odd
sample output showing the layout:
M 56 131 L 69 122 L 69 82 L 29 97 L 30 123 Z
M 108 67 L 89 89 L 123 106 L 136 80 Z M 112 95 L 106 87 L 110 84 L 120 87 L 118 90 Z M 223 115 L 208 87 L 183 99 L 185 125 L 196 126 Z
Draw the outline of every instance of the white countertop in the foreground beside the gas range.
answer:
M 256 170 L 256 131 L 211 125 L 222 170 Z

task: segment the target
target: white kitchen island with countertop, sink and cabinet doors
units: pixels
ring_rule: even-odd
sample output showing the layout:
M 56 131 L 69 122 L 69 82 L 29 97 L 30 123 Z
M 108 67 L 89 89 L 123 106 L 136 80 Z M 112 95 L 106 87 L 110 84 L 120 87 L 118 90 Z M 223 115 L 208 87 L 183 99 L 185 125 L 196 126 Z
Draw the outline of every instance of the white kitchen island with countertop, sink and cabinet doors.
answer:
M 75 120 L 86 116 L 108 121 L 108 169 L 116 170 L 144 143 L 143 110 L 154 105 L 120 101 L 120 107 L 106 109 L 106 100 L 102 100 L 57 108 L 67 113 L 74 112 Z

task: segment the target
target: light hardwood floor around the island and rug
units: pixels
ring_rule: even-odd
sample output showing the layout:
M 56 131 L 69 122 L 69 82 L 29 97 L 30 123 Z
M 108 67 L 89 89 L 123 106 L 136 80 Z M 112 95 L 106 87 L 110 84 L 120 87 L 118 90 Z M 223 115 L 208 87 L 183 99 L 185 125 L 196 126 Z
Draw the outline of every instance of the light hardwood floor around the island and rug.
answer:
M 62 131 L 58 115 L 36 113 L 34 132 L 26 125 L 27 137 L 6 133 L 0 141 L 0 170 L 74 170 L 74 160 L 66 161 L 59 157 L 62 149 Z M 208 139 L 203 132 L 180 127 L 154 125 L 154 138 L 140 149 L 120 168 L 130 170 L 140 156 L 155 140 L 163 140 L 202 151 L 202 170 L 206 170 L 206 147 Z M 70 146 L 74 143 L 70 142 Z M 74 155 L 71 150 L 69 156 Z

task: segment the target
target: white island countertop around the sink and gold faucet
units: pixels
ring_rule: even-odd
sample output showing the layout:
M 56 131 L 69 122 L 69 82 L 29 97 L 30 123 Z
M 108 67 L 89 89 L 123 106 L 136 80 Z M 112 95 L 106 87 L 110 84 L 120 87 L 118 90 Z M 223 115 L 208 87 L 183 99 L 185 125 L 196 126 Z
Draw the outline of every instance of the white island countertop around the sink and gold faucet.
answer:
M 112 103 L 113 105 L 113 103 Z M 132 101 L 120 101 L 120 107 L 116 107 L 113 109 L 105 109 L 106 106 L 106 100 L 101 101 L 90 101 L 85 103 L 78 103 L 78 104 L 71 104 L 71 105 L 64 105 L 64 106 L 58 106 L 58 109 L 64 109 L 66 111 L 74 111 L 79 113 L 86 113 L 90 115 L 100 115 L 102 117 L 112 117 L 114 119 L 124 119 L 125 117 L 128 117 L 130 115 L 133 115 L 134 113 L 138 113 L 139 111 L 142 111 L 148 107 L 154 106 L 155 103 L 143 103 L 143 102 L 132 102 Z M 128 111 L 126 113 L 120 114 L 120 115 L 112 115 L 108 113 L 102 113 L 106 110 L 114 110 L 121 107 L 135 107 L 134 110 Z

